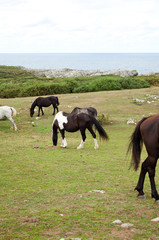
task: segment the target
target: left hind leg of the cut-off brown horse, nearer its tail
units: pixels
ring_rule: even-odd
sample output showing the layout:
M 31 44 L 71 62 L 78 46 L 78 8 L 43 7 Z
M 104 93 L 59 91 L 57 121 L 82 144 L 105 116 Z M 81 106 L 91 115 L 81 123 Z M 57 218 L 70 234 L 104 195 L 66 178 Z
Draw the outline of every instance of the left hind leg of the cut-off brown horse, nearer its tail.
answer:
M 139 192 L 138 198 L 145 198 L 143 187 L 144 187 L 145 176 L 148 171 L 147 162 L 148 162 L 148 158 L 146 158 L 146 160 L 142 163 L 139 180 L 138 180 L 137 186 L 135 187 L 135 190 Z

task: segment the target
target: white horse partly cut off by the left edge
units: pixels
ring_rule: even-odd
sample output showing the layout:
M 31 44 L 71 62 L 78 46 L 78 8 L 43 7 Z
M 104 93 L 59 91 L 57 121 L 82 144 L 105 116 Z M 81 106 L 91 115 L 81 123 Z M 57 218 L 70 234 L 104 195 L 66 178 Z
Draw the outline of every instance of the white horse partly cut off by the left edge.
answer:
M 8 118 L 11 122 L 11 129 L 13 128 L 13 125 L 14 125 L 15 131 L 17 131 L 17 126 L 12 118 L 15 116 L 16 116 L 16 110 L 13 107 L 8 107 L 8 106 L 0 107 L 0 119 L 3 119 L 5 117 Z

